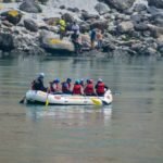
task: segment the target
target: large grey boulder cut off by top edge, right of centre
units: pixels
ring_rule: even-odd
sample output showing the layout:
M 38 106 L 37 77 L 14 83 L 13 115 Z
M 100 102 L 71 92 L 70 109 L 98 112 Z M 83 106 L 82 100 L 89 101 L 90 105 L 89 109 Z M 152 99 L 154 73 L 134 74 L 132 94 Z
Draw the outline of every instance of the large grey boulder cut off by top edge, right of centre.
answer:
M 103 0 L 103 1 L 118 11 L 128 10 L 135 2 L 135 0 Z

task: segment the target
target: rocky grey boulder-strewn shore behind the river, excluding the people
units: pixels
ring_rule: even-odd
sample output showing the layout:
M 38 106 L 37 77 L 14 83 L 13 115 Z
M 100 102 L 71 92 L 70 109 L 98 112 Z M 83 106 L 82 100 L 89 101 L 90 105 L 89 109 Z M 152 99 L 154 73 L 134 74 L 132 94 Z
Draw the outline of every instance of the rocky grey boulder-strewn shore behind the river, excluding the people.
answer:
M 108 57 L 163 57 L 162 0 L 3 0 L 0 2 L 0 55 L 58 50 L 73 53 L 70 35 L 62 41 L 59 39 L 61 15 L 67 29 L 77 21 L 83 37 L 89 38 L 92 28 L 101 29 L 100 52 Z

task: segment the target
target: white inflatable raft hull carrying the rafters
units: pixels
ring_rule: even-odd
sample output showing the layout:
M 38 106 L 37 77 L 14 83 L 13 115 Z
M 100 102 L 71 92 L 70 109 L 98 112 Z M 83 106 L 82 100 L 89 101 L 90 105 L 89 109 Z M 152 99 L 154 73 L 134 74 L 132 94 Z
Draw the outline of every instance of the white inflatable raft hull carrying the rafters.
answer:
M 75 95 L 51 95 L 40 90 L 28 90 L 26 92 L 27 103 L 41 103 L 53 105 L 106 105 L 113 101 L 111 90 L 106 90 L 103 97 L 75 96 Z

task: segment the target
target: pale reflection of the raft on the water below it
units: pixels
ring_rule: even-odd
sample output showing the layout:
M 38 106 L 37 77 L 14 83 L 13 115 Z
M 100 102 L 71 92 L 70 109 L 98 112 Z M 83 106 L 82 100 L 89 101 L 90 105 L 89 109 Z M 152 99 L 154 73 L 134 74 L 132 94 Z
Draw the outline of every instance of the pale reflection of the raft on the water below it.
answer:
M 40 106 L 27 105 L 27 116 L 37 121 L 39 118 L 58 120 L 74 120 L 77 118 L 83 123 L 90 114 L 95 114 L 95 118 L 103 118 L 108 121 L 112 115 L 112 105 L 108 106 L 77 106 L 77 105 L 62 105 L 62 106 Z

